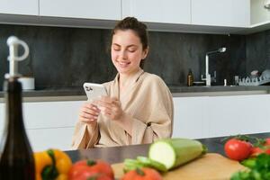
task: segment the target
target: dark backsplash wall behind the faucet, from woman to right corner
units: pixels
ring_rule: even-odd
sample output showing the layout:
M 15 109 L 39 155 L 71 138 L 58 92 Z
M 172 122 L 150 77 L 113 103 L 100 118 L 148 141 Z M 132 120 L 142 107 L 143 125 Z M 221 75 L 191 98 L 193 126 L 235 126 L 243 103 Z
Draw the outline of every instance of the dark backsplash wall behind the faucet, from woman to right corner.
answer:
M 245 36 L 150 32 L 150 46 L 145 67 L 169 85 L 185 85 L 188 68 L 193 70 L 194 80 L 200 80 L 205 74 L 206 52 L 221 47 L 227 51 L 209 57 L 210 73 L 216 71 L 217 83 L 246 73 Z

